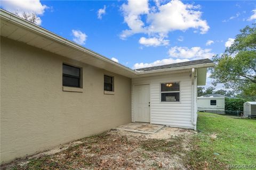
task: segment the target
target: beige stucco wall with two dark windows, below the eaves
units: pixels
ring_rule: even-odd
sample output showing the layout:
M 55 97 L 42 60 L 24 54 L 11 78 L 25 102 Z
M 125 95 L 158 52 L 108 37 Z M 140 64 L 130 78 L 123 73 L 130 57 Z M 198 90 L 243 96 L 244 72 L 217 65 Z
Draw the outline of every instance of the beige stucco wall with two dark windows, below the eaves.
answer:
M 83 92 L 62 91 L 63 62 L 83 68 Z M 1 163 L 129 122 L 131 79 L 1 37 Z

